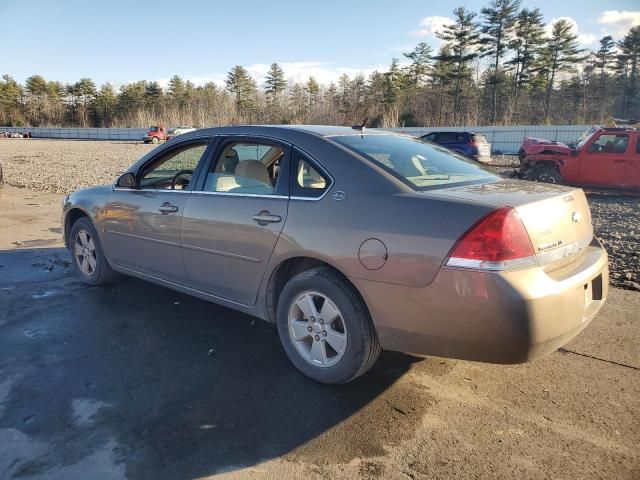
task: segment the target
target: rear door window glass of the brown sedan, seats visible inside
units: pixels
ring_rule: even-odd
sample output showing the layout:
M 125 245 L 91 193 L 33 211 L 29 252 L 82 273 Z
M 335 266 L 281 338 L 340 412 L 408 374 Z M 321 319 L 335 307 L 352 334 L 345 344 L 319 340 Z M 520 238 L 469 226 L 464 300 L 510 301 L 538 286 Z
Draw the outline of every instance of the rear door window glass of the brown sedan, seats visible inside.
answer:
M 205 192 L 274 195 L 284 149 L 259 142 L 226 144 L 211 164 Z

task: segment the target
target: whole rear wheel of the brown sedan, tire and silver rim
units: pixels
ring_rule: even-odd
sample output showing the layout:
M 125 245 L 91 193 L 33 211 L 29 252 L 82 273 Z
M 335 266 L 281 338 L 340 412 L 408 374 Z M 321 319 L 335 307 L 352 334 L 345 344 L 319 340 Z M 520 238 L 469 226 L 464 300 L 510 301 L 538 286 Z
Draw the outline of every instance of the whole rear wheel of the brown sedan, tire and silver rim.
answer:
M 380 342 L 364 302 L 326 267 L 291 278 L 278 299 L 280 341 L 291 362 L 321 383 L 342 384 L 369 370 Z

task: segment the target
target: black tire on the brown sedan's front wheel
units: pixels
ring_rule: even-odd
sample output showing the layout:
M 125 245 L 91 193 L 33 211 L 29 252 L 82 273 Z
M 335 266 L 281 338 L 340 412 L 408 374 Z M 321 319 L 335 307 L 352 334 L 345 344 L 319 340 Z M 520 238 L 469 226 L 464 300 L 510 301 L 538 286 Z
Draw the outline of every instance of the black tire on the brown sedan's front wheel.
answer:
M 89 268 L 90 271 L 83 270 L 82 264 L 88 260 L 86 258 L 81 259 L 81 255 L 78 255 L 76 251 L 76 245 L 81 247 L 81 232 L 88 234 L 95 247 L 95 254 L 92 255 L 95 259 L 95 268 Z M 118 274 L 111 268 L 111 265 L 109 265 L 109 262 L 105 258 L 102 245 L 100 244 L 100 238 L 93 224 L 87 217 L 79 218 L 74 222 L 71 227 L 71 232 L 69 233 L 68 247 L 76 273 L 84 283 L 94 286 L 105 285 L 118 277 Z M 91 265 L 89 265 L 89 267 L 91 267 Z

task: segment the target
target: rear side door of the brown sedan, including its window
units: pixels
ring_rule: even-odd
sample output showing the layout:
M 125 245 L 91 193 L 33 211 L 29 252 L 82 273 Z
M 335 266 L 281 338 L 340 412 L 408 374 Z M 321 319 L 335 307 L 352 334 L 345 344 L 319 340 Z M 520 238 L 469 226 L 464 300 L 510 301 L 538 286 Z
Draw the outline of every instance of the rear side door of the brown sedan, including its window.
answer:
M 253 305 L 287 217 L 291 147 L 221 138 L 187 200 L 182 255 L 192 288 Z

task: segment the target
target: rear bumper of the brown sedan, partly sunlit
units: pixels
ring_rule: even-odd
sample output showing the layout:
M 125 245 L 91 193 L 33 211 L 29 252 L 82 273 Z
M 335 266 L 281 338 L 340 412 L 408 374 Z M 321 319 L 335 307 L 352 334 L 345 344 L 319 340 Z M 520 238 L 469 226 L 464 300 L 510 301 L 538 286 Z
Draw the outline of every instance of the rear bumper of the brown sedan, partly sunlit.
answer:
M 582 331 L 604 305 L 606 251 L 590 246 L 561 272 L 443 268 L 424 288 L 352 279 L 382 347 L 490 363 L 546 355 Z

